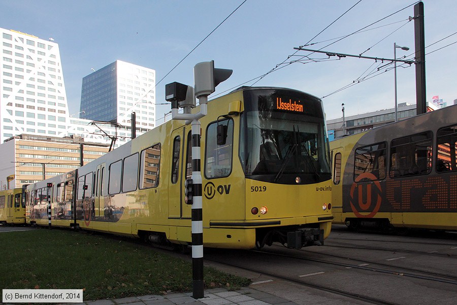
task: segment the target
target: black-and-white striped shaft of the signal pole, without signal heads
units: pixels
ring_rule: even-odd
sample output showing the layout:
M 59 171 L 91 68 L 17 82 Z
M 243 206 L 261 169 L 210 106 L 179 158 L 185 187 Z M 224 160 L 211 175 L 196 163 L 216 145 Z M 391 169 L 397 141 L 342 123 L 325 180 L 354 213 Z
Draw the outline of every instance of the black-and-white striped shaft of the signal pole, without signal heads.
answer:
M 203 204 L 200 158 L 200 121 L 192 120 L 192 297 L 204 297 L 203 292 Z

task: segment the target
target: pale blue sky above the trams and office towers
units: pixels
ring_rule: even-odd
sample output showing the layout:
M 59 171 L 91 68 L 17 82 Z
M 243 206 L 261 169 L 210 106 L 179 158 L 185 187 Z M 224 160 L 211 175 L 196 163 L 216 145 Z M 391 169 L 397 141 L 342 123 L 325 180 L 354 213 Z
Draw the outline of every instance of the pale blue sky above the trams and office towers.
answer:
M 63 76 L 70 113 L 79 112 L 82 78 L 116 59 L 156 70 L 158 82 L 195 46 L 197 46 L 243 0 L 156 1 L 156 0 L 3 0 L 0 2 L 0 27 L 52 37 L 59 44 Z M 219 84 L 216 93 L 236 87 L 273 69 L 284 60 L 299 59 L 293 47 L 304 45 L 358 0 L 247 0 L 208 39 L 195 49 L 156 87 L 157 103 L 165 103 L 165 85 L 178 81 L 193 85 L 193 66 L 214 60 L 219 68 L 232 69 L 233 75 Z M 455 0 L 424 0 L 426 46 L 457 32 Z M 317 36 L 322 42 L 351 34 L 409 5 L 411 0 L 362 0 L 348 13 Z M 414 21 L 409 7 L 390 16 L 360 34 L 331 46 L 309 46 L 331 52 L 393 58 L 394 42 L 408 46 L 397 49 L 397 57 L 414 52 Z M 403 25 L 403 26 L 402 26 Z M 378 28 L 375 28 L 378 27 Z M 375 28 L 375 29 L 373 29 Z M 395 33 L 393 33 L 395 31 Z M 387 37 L 388 36 L 388 37 Z M 426 49 L 432 52 L 457 41 L 453 35 Z M 426 55 L 427 99 L 439 95 L 451 104 L 457 99 L 457 44 Z M 307 55 L 299 51 L 296 55 Z M 313 54 L 312 58 L 325 56 Z M 411 58 L 408 57 L 408 58 Z M 256 86 L 281 86 L 325 97 L 327 118 L 364 113 L 394 106 L 394 71 L 357 83 L 339 93 L 336 90 L 353 83 L 379 63 L 359 58 L 287 65 L 270 73 Z M 415 70 L 398 68 L 398 102 L 415 103 Z M 381 72 L 383 70 L 381 69 Z M 245 85 L 252 85 L 254 81 Z M 329 96 L 330 95 L 330 96 Z M 210 99 L 211 97 L 210 96 Z M 157 105 L 157 120 L 163 120 L 170 105 Z

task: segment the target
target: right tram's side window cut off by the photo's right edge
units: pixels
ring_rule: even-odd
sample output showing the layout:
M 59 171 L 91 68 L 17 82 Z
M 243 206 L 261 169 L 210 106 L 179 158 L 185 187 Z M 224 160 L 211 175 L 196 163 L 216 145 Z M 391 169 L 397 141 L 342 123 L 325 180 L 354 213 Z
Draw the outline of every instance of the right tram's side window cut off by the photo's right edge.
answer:
M 437 132 L 436 171 L 447 172 L 457 170 L 457 126 L 439 129 Z

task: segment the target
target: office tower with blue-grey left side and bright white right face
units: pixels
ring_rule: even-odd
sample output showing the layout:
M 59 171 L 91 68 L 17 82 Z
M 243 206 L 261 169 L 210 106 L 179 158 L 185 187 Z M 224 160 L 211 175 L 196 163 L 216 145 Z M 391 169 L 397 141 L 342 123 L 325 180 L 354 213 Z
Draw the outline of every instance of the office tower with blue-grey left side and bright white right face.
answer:
M 137 130 L 155 126 L 155 70 L 116 60 L 82 81 L 80 118 L 130 126 L 136 113 Z

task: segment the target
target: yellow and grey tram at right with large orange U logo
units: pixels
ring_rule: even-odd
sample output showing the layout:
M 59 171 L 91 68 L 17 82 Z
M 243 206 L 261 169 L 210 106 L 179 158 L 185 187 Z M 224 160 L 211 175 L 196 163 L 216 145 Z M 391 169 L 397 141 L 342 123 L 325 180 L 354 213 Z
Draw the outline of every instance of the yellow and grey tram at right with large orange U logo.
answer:
M 334 223 L 456 230 L 457 106 L 330 142 Z

